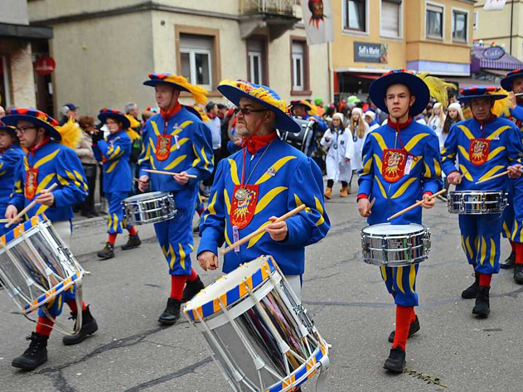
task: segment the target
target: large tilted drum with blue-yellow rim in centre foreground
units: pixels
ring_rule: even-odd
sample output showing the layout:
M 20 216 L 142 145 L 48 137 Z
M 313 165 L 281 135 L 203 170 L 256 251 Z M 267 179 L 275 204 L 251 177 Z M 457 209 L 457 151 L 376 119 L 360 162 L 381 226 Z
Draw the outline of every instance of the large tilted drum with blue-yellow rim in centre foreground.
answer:
M 207 286 L 184 313 L 234 391 L 296 390 L 328 368 L 327 343 L 270 256 Z

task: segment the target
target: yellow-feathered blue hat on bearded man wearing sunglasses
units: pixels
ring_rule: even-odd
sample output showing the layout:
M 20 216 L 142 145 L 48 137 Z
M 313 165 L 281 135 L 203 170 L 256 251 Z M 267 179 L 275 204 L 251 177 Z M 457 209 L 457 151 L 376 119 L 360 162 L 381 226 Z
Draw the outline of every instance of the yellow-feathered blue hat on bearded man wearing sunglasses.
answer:
M 300 125 L 294 121 L 290 114 L 287 102 L 280 98 L 271 88 L 245 80 L 222 80 L 218 91 L 234 105 L 240 106 L 241 98 L 250 98 L 276 113 L 275 128 L 282 131 L 300 132 Z

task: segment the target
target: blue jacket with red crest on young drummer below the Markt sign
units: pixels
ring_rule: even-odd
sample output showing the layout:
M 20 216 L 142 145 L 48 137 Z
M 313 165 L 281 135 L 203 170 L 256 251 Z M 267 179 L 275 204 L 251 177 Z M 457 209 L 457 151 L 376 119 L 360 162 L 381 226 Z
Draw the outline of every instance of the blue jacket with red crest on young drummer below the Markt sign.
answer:
M 438 137 L 428 126 L 414 120 L 399 134 L 388 124 L 369 133 L 363 145 L 362 164 L 358 193 L 376 198 L 367 219 L 369 225 L 386 222 L 388 216 L 421 200 L 423 193 L 436 193 L 443 185 Z M 421 222 L 422 207 L 392 220 L 393 224 Z

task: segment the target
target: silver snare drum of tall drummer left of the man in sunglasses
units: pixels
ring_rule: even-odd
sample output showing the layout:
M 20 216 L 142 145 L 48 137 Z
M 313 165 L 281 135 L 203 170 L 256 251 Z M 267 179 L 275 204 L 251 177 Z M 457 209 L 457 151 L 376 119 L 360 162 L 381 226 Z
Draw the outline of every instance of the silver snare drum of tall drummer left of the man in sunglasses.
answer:
M 167 221 L 176 215 L 174 195 L 169 192 L 149 192 L 123 199 L 123 211 L 129 225 L 146 225 Z

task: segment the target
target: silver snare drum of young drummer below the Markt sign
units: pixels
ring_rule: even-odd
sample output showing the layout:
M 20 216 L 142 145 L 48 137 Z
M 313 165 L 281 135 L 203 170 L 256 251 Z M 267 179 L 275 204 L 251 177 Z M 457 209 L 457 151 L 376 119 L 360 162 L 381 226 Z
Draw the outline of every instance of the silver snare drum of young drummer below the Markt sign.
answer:
M 361 229 L 363 261 L 385 267 L 404 267 L 424 261 L 430 232 L 423 225 L 380 223 Z

